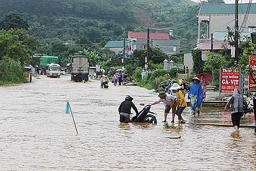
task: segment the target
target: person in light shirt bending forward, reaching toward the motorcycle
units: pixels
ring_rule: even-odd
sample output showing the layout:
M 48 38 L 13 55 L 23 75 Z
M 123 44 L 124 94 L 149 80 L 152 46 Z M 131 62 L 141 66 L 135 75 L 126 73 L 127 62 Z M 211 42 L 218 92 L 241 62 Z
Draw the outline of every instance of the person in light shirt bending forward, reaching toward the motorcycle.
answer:
M 154 101 L 150 105 L 154 105 L 157 103 L 160 103 L 161 101 L 165 103 L 165 110 L 164 110 L 164 120 L 162 122 L 166 122 L 167 115 L 170 112 L 170 108 L 172 108 L 172 122 L 174 122 L 175 117 L 175 111 L 176 111 L 176 97 L 173 95 L 165 94 L 164 92 L 159 92 L 158 95 L 159 99 L 157 101 Z

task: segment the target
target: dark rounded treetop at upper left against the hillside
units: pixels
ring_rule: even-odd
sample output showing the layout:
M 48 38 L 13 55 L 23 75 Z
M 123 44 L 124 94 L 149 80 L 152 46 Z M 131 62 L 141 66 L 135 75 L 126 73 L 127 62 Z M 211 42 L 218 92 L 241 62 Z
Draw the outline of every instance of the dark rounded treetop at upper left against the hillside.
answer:
M 22 14 L 12 11 L 4 14 L 0 19 L 0 30 L 25 29 L 28 30 L 28 19 Z

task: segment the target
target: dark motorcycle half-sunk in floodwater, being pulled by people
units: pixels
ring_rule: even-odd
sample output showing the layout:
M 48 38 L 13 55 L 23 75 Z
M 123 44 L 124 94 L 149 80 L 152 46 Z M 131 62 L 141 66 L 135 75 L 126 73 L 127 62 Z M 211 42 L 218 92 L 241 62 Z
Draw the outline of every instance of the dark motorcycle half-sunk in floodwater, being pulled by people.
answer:
M 150 105 L 146 105 L 140 112 L 139 115 L 132 117 L 131 122 L 140 122 L 140 123 L 152 123 L 157 124 L 157 115 L 154 112 L 150 111 Z

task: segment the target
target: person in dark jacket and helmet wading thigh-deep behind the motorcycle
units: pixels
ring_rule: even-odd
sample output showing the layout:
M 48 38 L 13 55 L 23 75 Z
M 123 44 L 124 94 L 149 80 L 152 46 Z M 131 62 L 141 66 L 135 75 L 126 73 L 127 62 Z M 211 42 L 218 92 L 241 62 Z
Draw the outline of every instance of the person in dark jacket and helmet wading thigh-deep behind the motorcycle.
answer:
M 131 96 L 126 96 L 125 100 L 120 104 L 118 112 L 120 115 L 120 122 L 128 123 L 130 121 L 131 108 L 136 112 L 136 115 L 139 115 L 139 112 L 132 102 L 133 98 Z

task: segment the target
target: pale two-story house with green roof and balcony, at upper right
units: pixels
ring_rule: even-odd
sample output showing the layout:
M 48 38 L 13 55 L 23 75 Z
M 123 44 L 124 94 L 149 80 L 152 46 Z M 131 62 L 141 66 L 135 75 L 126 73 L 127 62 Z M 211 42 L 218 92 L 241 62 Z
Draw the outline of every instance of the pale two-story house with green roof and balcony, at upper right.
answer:
M 203 60 L 207 60 L 206 51 L 217 52 L 222 50 L 224 46 L 231 50 L 231 47 L 223 40 L 228 34 L 227 27 L 234 32 L 235 4 L 202 4 L 197 17 L 197 48 L 202 50 Z M 239 4 L 238 18 L 239 41 L 243 41 L 245 36 L 250 36 L 248 27 L 256 26 L 256 4 Z M 202 28 L 205 28 L 205 30 Z M 188 68 L 193 68 L 191 54 L 184 54 L 184 65 L 188 66 Z

